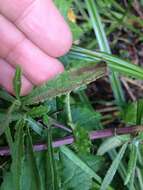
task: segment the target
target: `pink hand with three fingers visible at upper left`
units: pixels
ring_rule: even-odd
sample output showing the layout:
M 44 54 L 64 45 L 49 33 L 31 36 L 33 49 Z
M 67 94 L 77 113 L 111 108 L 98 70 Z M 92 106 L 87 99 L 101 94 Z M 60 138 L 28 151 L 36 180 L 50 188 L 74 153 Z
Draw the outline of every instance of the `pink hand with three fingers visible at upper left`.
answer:
M 0 85 L 10 93 L 16 65 L 26 95 L 63 72 L 57 58 L 71 45 L 70 29 L 52 0 L 0 0 Z

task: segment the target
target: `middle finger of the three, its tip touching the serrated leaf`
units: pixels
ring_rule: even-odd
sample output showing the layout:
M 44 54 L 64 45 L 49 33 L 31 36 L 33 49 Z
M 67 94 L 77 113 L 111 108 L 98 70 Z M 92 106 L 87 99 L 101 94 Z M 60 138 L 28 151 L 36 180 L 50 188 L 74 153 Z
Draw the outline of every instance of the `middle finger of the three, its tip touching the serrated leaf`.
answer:
M 58 60 L 43 53 L 2 16 L 0 26 L 0 57 L 13 66 L 20 65 L 33 84 L 41 84 L 63 72 L 63 65 Z

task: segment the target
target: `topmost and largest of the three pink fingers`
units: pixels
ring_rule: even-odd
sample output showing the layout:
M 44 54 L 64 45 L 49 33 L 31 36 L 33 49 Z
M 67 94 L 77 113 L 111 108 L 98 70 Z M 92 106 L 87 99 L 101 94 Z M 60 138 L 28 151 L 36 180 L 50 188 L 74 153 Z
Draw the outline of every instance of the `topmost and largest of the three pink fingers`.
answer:
M 0 0 L 0 12 L 50 56 L 70 49 L 71 32 L 52 0 Z

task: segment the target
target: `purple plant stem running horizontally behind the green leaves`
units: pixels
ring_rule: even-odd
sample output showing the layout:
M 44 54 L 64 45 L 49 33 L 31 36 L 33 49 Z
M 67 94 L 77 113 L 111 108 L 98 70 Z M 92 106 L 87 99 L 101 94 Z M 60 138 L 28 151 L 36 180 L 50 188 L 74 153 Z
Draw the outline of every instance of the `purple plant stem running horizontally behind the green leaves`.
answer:
M 131 127 L 124 127 L 124 128 L 113 128 L 113 129 L 103 129 L 92 131 L 89 136 L 91 140 L 95 139 L 103 139 L 107 137 L 112 137 L 115 135 L 125 135 L 125 134 L 133 134 L 143 131 L 143 126 L 131 126 Z M 52 145 L 54 148 L 60 147 L 63 145 L 72 144 L 74 142 L 73 136 L 68 136 L 56 141 L 53 141 Z M 35 144 L 33 146 L 34 151 L 43 151 L 46 150 L 46 144 Z M 10 150 L 8 147 L 1 147 L 0 148 L 0 156 L 8 156 L 10 155 Z

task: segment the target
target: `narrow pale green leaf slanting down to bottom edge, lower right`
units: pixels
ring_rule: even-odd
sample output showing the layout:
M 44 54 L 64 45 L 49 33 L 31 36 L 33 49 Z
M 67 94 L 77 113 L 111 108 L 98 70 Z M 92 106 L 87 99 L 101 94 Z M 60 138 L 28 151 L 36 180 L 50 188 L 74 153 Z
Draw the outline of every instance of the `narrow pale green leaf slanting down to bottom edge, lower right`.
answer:
M 100 190 L 106 190 L 108 188 L 108 186 L 111 184 L 112 180 L 113 180 L 113 177 L 114 175 L 116 174 L 116 171 L 120 165 L 120 162 L 124 156 L 124 153 L 126 151 L 126 148 L 128 146 L 128 143 L 125 143 L 119 153 L 117 154 L 116 158 L 113 160 L 110 168 L 108 169 L 104 179 L 103 179 L 103 182 L 101 184 L 101 188 Z

